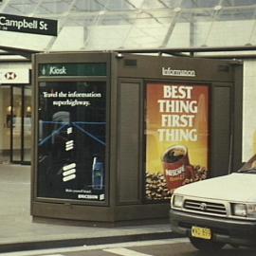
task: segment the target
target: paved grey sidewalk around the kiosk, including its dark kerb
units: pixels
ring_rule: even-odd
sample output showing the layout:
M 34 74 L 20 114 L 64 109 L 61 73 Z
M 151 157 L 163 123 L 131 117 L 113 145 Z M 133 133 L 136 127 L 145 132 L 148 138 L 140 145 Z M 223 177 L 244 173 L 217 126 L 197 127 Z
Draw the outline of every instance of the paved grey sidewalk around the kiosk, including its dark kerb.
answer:
M 99 228 L 33 222 L 30 166 L 0 165 L 0 252 L 174 237 L 166 224 Z

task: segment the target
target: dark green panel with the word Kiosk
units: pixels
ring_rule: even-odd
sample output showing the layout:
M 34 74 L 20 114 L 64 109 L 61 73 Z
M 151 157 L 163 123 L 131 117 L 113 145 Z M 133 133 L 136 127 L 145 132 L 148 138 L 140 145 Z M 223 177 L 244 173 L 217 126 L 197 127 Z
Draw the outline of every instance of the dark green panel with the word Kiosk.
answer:
M 39 77 L 106 76 L 106 64 L 40 64 Z

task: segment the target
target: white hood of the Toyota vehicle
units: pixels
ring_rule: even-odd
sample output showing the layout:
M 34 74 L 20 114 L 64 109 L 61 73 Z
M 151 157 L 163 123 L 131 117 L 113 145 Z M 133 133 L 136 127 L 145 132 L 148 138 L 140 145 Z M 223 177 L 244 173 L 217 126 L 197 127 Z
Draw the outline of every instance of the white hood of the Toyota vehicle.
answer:
M 256 202 L 256 174 L 233 173 L 214 177 L 182 186 L 174 193 L 236 202 Z

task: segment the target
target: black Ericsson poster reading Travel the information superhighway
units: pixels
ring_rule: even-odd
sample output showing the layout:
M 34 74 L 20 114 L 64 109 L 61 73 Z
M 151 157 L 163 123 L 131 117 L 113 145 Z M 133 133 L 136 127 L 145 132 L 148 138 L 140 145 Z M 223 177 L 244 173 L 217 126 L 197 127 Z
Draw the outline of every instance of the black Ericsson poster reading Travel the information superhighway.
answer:
M 106 82 L 40 82 L 38 196 L 105 200 Z

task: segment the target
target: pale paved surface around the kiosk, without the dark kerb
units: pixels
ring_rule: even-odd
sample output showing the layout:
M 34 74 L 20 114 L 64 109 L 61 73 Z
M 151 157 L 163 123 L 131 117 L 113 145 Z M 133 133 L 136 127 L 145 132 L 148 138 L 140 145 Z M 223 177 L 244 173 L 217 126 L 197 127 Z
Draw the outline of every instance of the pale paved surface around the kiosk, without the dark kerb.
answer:
M 171 230 L 169 224 L 92 228 L 35 223 L 29 214 L 30 166 L 0 165 L 0 202 L 0 247 L 39 241 L 161 234 Z

